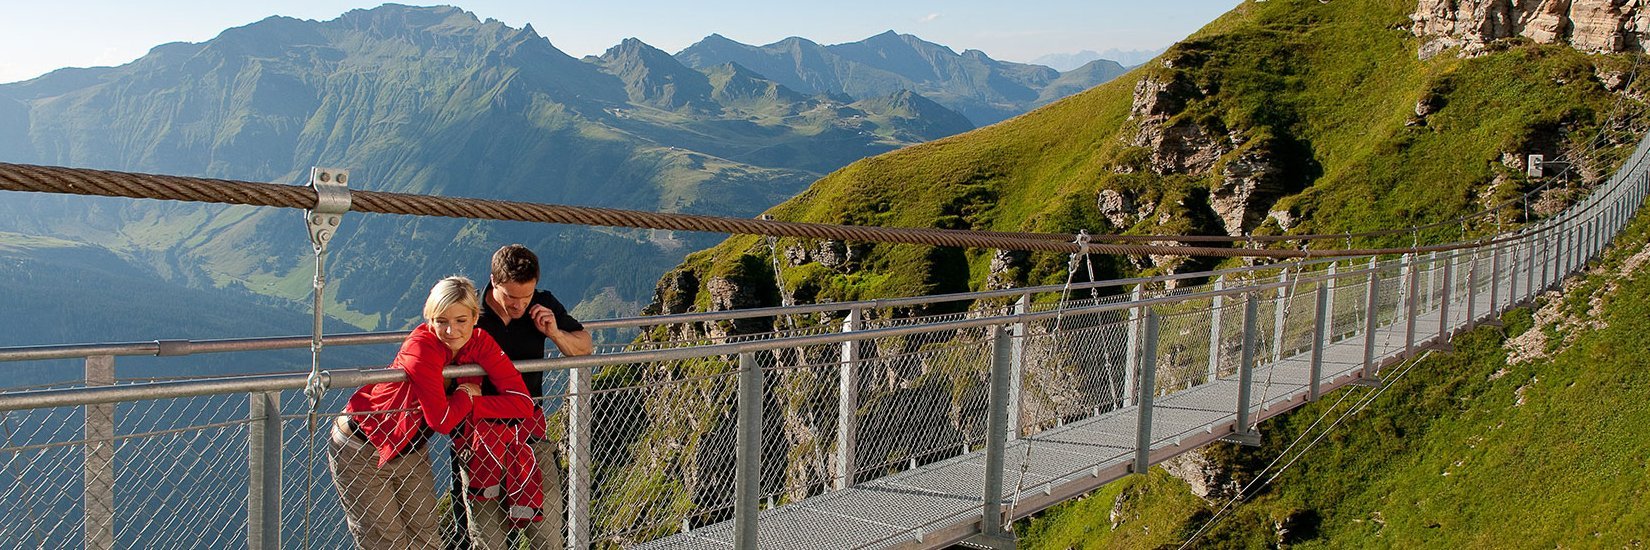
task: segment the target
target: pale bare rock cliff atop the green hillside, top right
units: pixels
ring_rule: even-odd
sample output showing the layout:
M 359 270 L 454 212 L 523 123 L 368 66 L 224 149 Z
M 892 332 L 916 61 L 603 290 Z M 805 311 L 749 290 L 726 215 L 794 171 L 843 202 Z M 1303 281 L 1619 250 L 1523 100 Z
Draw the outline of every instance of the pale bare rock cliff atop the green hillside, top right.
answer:
M 1482 55 L 1488 43 L 1523 36 L 1584 51 L 1643 51 L 1650 13 L 1643 0 L 1421 0 L 1414 33 L 1431 38 L 1421 58 L 1460 46 Z

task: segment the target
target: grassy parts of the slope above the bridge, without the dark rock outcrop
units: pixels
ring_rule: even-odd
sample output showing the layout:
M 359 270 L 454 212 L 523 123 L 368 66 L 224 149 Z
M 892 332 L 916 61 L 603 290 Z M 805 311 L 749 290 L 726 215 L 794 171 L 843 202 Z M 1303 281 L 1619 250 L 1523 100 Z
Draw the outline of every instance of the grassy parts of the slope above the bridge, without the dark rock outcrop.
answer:
M 1412 0 L 1244 3 L 1158 63 L 997 126 L 856 162 L 771 213 L 997 231 L 1213 231 L 1198 220 L 1211 216 L 1203 202 L 1219 183 L 1219 168 L 1269 147 L 1264 152 L 1289 165 L 1285 185 L 1295 193 L 1275 208 L 1307 220 L 1292 231 L 1422 225 L 1480 208 L 1497 175 L 1513 183 L 1497 193 L 1531 188 L 1500 165 L 1503 152 L 1572 145 L 1615 111 L 1615 96 L 1592 76 L 1594 66 L 1625 73 L 1627 58 L 1511 45 L 1477 59 L 1419 61 L 1419 41 L 1406 26 L 1411 10 Z M 1117 173 L 1115 167 L 1148 157 L 1129 144 L 1134 122 L 1127 121 L 1135 84 L 1148 76 L 1180 76 L 1206 91 L 1173 121 L 1238 129 L 1247 144 L 1211 175 Z M 1426 126 L 1406 126 L 1424 96 L 1442 97 L 1442 107 Z M 1094 206 L 1102 188 L 1137 192 L 1176 216 L 1163 226 L 1145 220 L 1110 228 Z M 1457 238 L 1459 230 L 1427 236 Z M 1409 243 L 1394 238 L 1388 244 L 1398 241 Z M 714 276 L 742 254 L 766 254 L 766 243 L 736 236 L 690 256 L 685 266 Z M 800 266 L 785 281 L 792 289 L 820 287 L 818 299 L 914 296 L 978 287 L 988 259 L 982 251 L 874 246 L 861 273 Z M 1053 254 L 1035 254 L 1021 282 L 1054 282 L 1064 274 L 1061 266 Z M 1107 276 L 1120 269 L 1120 263 L 1106 266 Z

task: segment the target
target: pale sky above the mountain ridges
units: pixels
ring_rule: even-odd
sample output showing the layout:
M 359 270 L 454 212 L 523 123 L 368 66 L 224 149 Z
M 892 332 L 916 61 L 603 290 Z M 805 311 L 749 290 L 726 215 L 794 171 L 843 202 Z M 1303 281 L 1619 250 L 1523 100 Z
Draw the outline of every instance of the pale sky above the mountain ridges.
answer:
M 1157 50 L 1236 7 L 1241 0 L 1054 0 L 1026 7 L 1003 0 L 828 2 L 564 2 L 459 0 L 480 18 L 528 23 L 571 56 L 601 55 L 624 38 L 676 53 L 719 33 L 769 45 L 802 36 L 822 45 L 858 41 L 894 30 L 1003 61 L 1031 61 L 1082 50 Z M 7 0 L 0 5 L 0 83 L 66 66 L 124 64 L 173 41 L 206 41 L 226 28 L 271 15 L 332 20 L 381 2 L 348 0 Z M 1015 7 L 1010 7 L 1015 5 Z

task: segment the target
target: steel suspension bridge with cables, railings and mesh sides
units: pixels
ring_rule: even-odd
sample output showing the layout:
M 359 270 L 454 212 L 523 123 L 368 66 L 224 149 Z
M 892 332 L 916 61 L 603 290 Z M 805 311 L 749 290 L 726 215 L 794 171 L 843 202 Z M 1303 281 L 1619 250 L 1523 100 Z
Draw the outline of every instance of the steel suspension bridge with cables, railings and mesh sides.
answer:
M 591 330 L 683 329 L 589 357 L 518 363 L 564 385 L 546 391 L 554 396 L 543 406 L 559 411 L 553 418 L 566 433 L 566 487 L 549 497 L 568 504 L 573 548 L 1002 548 L 1013 545 L 1008 527 L 1018 519 L 1211 441 L 1256 443 L 1261 421 L 1346 385 L 1381 385 L 1391 365 L 1447 347 L 1450 335 L 1553 287 L 1643 203 L 1647 144 L 1586 200 L 1513 231 L 1332 251 L 370 193 L 350 192 L 342 172 L 327 170 L 295 187 L 0 164 L 0 190 L 305 208 L 318 274 L 346 211 L 1058 251 L 1074 254 L 1072 269 L 1086 254 L 1277 259 L 591 320 Z M 1404 231 L 1414 228 L 1383 235 Z M 1224 238 L 1181 241 L 1203 239 Z M 893 314 L 936 309 L 962 312 Z M 8 477 L 0 545 L 351 545 L 322 456 L 325 426 L 356 386 L 403 378 L 325 363 L 320 348 L 389 345 L 406 332 L 323 335 L 318 304 L 315 319 L 307 337 L 0 348 L 0 362 L 84 365 L 84 383 L 0 391 L 0 476 Z M 759 334 L 686 329 L 741 319 L 785 322 Z M 132 355 L 305 347 L 317 353 L 310 373 L 153 382 L 122 380 L 116 367 Z M 459 367 L 449 377 L 478 372 Z M 436 476 L 446 477 L 444 443 L 434 444 Z

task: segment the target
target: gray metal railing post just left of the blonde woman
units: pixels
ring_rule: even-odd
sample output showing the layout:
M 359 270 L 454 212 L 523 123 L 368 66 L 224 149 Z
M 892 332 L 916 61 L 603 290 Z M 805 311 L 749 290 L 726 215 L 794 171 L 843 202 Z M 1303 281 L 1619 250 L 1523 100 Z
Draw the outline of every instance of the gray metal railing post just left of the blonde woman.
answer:
M 246 547 L 280 548 L 280 391 L 249 395 Z

